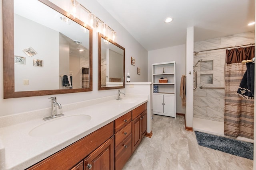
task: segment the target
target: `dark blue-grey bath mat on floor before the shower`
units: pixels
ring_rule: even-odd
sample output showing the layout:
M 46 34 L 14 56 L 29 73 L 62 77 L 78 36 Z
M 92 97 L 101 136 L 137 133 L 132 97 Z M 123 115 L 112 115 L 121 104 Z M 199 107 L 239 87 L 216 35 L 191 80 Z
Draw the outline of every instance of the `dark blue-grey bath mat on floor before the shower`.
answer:
M 195 131 L 200 146 L 253 160 L 253 143 Z

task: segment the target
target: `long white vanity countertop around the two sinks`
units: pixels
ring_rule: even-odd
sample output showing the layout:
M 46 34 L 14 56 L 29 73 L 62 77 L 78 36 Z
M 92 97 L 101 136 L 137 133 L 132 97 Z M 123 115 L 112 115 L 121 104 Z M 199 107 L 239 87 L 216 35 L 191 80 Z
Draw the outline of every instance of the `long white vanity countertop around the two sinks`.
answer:
M 106 102 L 63 112 L 64 116 L 62 117 L 86 114 L 91 116 L 91 120 L 79 127 L 74 127 L 70 131 L 64 131 L 56 135 L 31 137 L 29 132 L 42 123 L 54 121 L 61 117 L 48 121 L 44 121 L 40 117 L 0 128 L 0 170 L 28 168 L 148 101 L 147 95 L 139 97 L 126 96 L 124 100 L 135 99 L 137 102 L 125 103 L 124 100 L 111 99 Z M 56 126 L 58 125 L 56 124 Z M 52 130 L 54 131 L 54 129 Z

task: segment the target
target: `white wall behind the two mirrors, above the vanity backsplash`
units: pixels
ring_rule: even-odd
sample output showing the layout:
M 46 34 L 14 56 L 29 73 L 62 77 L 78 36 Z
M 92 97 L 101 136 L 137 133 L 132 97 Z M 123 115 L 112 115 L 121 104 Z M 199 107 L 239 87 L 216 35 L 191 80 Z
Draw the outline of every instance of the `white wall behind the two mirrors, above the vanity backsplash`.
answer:
M 62 1 L 56 1 L 62 3 Z M 132 81 L 147 81 L 147 63 L 148 52 L 142 47 L 129 33 L 118 23 L 98 2 L 92 0 L 80 0 L 80 3 L 88 8 L 102 21 L 106 22 L 112 29 L 117 32 L 117 43 L 125 48 L 126 53 L 126 71 L 129 68 Z M 0 23 L 2 23 L 2 0 L 0 0 Z M 2 26 L 0 26 L 0 53 L 3 53 L 3 35 Z M 15 113 L 21 113 L 25 111 L 32 111 L 37 109 L 44 109 L 50 107 L 51 96 L 57 96 L 57 102 L 62 105 L 71 104 L 74 102 L 80 102 L 84 100 L 90 100 L 105 96 L 112 96 L 117 94 L 117 90 L 100 90 L 98 91 L 98 34 L 96 29 L 93 31 L 93 91 L 92 92 L 80 92 L 71 94 L 57 94 L 48 96 L 35 96 L 26 98 L 12 98 L 3 99 L 3 74 L 0 74 L 0 116 L 11 115 Z M 136 58 L 136 66 L 141 68 L 141 74 L 137 75 L 137 68 L 131 69 L 130 57 Z M 3 61 L 3 55 L 0 55 L 0 61 Z M 129 62 L 128 62 L 129 61 Z M 3 63 L 0 62 L 0 70 L 3 70 Z M 125 90 L 124 90 L 125 91 Z M 50 114 L 50 113 L 49 113 Z M 104 114 L 104 113 L 102 113 Z

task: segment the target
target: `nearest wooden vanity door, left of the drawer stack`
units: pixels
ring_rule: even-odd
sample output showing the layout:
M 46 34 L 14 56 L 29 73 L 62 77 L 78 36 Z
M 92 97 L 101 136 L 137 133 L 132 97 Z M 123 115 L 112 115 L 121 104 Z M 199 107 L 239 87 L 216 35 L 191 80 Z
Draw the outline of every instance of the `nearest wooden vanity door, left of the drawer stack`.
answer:
M 84 159 L 85 170 L 114 170 L 114 138 L 102 144 Z

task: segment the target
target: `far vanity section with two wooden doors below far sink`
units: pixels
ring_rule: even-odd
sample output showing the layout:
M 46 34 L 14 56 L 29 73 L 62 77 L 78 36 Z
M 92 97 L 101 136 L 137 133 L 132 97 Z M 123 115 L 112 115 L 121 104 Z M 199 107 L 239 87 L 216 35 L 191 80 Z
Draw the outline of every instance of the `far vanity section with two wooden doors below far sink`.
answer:
M 132 153 L 147 132 L 147 104 L 132 110 Z

